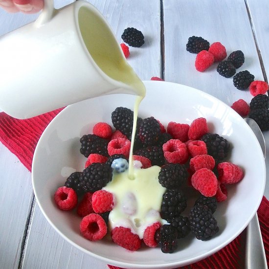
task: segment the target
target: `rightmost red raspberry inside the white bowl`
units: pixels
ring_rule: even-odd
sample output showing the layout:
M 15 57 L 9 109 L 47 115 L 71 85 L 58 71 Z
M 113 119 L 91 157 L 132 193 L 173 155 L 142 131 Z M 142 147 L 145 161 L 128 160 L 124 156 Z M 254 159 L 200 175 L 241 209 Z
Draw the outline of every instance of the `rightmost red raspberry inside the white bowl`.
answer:
M 224 184 L 237 183 L 243 179 L 243 170 L 236 164 L 231 162 L 221 162 L 217 166 L 219 173 L 219 181 Z

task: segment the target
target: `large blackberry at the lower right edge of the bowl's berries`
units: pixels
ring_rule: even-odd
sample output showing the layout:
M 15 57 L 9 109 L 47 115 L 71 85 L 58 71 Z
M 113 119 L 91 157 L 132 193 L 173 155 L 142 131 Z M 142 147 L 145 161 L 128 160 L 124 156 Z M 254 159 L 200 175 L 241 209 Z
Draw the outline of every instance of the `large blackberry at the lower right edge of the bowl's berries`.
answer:
M 193 206 L 189 214 L 189 221 L 191 233 L 199 240 L 208 240 L 219 231 L 217 221 L 206 205 Z

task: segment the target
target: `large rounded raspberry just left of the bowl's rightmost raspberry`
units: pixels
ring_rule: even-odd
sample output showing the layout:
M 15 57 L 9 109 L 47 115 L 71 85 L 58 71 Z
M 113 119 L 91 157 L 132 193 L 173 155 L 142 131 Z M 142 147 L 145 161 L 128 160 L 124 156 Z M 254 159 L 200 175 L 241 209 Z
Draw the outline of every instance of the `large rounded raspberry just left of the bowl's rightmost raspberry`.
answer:
M 196 171 L 191 177 L 191 183 L 196 190 L 206 197 L 214 196 L 218 189 L 216 175 L 207 168 Z

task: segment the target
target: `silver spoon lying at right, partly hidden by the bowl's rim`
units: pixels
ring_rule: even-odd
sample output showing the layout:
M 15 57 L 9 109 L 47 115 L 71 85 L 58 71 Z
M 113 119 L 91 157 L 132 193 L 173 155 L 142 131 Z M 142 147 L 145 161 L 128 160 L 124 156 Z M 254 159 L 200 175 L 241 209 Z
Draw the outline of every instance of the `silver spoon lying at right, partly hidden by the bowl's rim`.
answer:
M 260 127 L 251 118 L 245 118 L 245 121 L 256 135 L 265 157 L 265 140 Z M 247 226 L 245 263 L 246 269 L 268 269 L 257 212 Z

